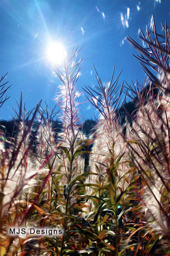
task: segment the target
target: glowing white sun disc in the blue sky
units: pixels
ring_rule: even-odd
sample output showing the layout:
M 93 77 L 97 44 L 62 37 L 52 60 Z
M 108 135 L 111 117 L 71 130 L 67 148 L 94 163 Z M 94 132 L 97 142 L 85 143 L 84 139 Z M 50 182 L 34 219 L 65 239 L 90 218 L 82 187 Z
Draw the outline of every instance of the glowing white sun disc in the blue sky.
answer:
M 57 41 L 49 42 L 46 49 L 46 57 L 53 64 L 62 65 L 66 57 L 66 51 L 63 44 Z

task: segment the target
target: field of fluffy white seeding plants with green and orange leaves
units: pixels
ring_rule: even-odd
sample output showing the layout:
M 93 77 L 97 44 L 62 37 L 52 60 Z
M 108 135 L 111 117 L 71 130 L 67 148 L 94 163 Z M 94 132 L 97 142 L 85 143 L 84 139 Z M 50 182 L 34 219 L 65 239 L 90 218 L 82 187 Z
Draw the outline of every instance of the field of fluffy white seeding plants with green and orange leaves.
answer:
M 84 121 L 81 51 L 54 66 L 60 110 L 14 109 L 0 126 L 1 256 L 170 255 L 170 30 L 128 37 L 142 85 L 113 74 L 84 86 L 99 119 Z M 0 106 L 8 86 L 0 83 Z M 126 97 L 131 102 L 126 102 Z M 122 99 L 124 98 L 124 102 Z

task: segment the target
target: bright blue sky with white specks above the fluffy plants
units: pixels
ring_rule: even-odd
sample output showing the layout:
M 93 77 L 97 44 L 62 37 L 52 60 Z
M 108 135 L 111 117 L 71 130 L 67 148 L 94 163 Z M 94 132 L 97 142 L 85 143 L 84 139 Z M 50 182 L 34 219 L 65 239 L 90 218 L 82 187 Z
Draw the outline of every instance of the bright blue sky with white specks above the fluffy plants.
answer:
M 79 53 L 83 57 L 79 92 L 83 92 L 84 85 L 96 84 L 93 65 L 103 82 L 111 77 L 115 64 L 115 76 L 123 68 L 120 83 L 125 80 L 131 84 L 136 79 L 142 83 L 145 74 L 132 56 L 136 50 L 125 38 L 129 35 L 139 42 L 138 30 L 146 31 L 152 14 L 161 33 L 160 22 L 166 20 L 169 25 L 169 5 L 169 0 L 1 0 L 0 75 L 8 71 L 5 79 L 12 86 L 0 118 L 11 119 L 12 106 L 16 107 L 21 91 L 28 110 L 40 99 L 44 105 L 48 103 L 49 109 L 55 106 L 55 91 L 61 83 L 46 59 L 49 40 L 61 42 L 63 37 L 67 54 L 73 45 L 83 47 Z M 88 102 L 82 107 L 85 119 L 94 118 L 95 109 L 88 108 Z

